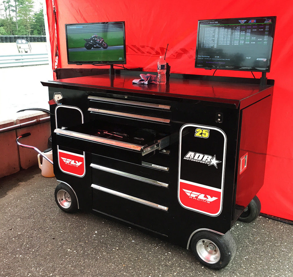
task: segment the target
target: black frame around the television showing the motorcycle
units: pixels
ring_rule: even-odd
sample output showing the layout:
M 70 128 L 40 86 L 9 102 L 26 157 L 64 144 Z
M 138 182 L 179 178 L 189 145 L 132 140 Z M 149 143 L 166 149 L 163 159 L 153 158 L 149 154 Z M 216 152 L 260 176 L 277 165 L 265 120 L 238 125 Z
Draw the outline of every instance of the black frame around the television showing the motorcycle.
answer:
M 124 61 L 69 61 L 69 51 L 68 51 L 68 39 L 67 39 L 67 26 L 76 25 L 93 25 L 93 24 L 108 24 L 108 23 L 123 23 L 123 52 Z M 67 51 L 67 63 L 68 64 L 100 64 L 100 65 L 111 65 L 111 64 L 126 64 L 126 42 L 125 42 L 125 21 L 108 21 L 108 22 L 91 22 L 91 23 L 68 23 L 65 24 L 65 40 L 66 40 L 66 51 Z

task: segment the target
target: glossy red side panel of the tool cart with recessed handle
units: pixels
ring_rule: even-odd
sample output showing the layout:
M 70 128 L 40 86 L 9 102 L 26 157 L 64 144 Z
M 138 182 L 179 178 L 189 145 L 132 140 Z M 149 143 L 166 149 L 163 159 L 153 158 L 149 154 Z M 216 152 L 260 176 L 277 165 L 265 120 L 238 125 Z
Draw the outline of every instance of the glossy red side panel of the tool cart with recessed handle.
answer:
M 272 95 L 241 110 L 234 221 L 263 186 Z

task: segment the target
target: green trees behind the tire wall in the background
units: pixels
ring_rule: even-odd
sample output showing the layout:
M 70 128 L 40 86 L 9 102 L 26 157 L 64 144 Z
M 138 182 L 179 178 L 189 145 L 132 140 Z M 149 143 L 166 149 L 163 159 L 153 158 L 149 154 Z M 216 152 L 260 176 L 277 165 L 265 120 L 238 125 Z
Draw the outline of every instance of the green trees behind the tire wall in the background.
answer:
M 43 9 L 34 0 L 0 0 L 0 35 L 45 35 Z

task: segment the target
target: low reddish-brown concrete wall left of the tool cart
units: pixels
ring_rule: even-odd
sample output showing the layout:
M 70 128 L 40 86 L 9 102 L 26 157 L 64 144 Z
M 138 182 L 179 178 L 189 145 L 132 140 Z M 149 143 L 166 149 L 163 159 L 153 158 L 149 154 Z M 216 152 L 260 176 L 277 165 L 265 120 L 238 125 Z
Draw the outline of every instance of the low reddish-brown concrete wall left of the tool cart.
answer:
M 33 114 L 23 115 L 25 113 L 26 112 L 17 113 L 17 118 L 15 120 L 11 119 L 0 122 L 0 129 L 48 116 L 48 114 L 44 112 L 35 112 Z M 20 170 L 20 168 L 27 169 L 38 164 L 38 153 L 36 151 L 23 148 L 18 146 L 16 143 L 16 138 L 18 136 L 28 132 L 31 133 L 31 135 L 21 138 L 21 143 L 35 146 L 39 148 L 40 151 L 47 149 L 48 138 L 51 134 L 50 122 L 0 134 L 0 157 L 4 160 L 0 163 L 0 178 L 16 173 Z

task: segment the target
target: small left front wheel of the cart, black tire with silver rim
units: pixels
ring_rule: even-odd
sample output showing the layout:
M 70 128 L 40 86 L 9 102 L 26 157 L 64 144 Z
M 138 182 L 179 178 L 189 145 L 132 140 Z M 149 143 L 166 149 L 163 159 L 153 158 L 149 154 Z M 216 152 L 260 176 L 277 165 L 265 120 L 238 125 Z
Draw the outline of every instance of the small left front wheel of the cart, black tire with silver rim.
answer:
M 55 201 L 58 207 L 66 213 L 78 211 L 77 199 L 73 190 L 64 183 L 57 185 L 55 189 Z

